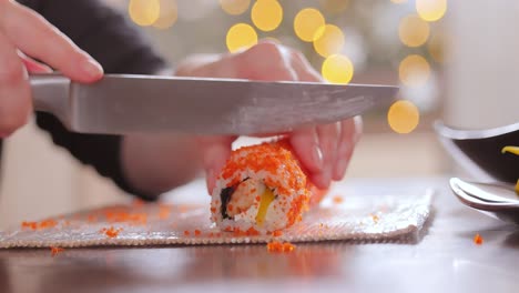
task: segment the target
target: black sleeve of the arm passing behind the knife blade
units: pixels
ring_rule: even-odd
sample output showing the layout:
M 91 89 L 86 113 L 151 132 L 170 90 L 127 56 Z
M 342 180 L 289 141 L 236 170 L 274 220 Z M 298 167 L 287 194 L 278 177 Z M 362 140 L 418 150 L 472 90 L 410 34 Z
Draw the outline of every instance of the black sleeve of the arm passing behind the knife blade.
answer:
M 99 0 L 26 0 L 32 8 L 81 49 L 89 52 L 106 73 L 152 74 L 166 69 L 166 63 L 150 47 L 147 40 L 128 19 Z M 144 200 L 145 194 L 125 180 L 121 165 L 119 135 L 92 135 L 69 132 L 53 115 L 37 113 L 37 123 L 47 130 L 52 141 L 69 150 L 78 160 L 111 178 L 122 190 Z

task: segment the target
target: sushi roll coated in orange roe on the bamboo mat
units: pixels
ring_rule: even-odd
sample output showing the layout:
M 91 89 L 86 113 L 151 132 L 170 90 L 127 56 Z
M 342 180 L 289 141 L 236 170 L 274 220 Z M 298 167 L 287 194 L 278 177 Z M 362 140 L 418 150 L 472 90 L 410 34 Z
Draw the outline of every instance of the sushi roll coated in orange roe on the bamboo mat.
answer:
M 217 178 L 212 221 L 225 231 L 275 232 L 299 222 L 324 195 L 317 191 L 287 140 L 244 146 L 232 152 Z

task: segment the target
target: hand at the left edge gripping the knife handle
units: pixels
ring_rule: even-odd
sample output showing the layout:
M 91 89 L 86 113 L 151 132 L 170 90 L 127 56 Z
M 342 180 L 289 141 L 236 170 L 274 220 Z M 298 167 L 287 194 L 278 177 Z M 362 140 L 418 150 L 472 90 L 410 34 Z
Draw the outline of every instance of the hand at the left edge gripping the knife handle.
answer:
M 101 65 L 34 11 L 0 0 L 0 139 L 26 124 L 32 112 L 28 72 L 50 67 L 80 82 L 103 75 Z

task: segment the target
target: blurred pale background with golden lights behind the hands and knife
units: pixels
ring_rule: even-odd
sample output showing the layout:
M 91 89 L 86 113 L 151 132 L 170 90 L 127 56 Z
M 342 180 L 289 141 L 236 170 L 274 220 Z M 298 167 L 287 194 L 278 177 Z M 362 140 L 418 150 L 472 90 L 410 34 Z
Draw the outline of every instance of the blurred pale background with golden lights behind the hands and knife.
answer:
M 193 53 L 261 39 L 301 50 L 333 83 L 398 84 L 399 99 L 364 117 L 346 180 L 456 172 L 436 120 L 481 129 L 515 123 L 519 3 L 447 0 L 105 0 L 174 67 Z M 110 50 L 110 48 L 106 48 Z M 0 229 L 129 201 L 30 124 L 6 145 Z

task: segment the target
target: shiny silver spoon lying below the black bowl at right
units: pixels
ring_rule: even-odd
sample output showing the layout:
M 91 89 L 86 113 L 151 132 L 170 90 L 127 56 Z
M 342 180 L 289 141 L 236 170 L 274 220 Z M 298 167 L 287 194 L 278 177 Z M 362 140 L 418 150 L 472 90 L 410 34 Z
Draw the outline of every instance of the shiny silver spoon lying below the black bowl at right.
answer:
M 450 189 L 458 200 L 487 215 L 519 224 L 519 200 L 513 188 L 501 183 L 467 182 L 450 179 Z

